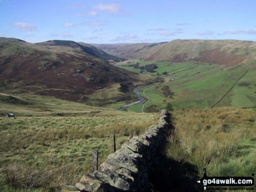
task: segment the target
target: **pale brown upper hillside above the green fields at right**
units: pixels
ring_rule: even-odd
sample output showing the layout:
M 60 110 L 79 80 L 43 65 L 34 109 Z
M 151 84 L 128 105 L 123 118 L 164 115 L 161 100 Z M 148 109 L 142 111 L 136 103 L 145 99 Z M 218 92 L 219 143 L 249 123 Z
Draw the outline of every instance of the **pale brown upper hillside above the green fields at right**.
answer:
M 226 67 L 256 61 L 256 42 L 242 40 L 173 40 L 165 44 L 148 61 L 199 61 Z

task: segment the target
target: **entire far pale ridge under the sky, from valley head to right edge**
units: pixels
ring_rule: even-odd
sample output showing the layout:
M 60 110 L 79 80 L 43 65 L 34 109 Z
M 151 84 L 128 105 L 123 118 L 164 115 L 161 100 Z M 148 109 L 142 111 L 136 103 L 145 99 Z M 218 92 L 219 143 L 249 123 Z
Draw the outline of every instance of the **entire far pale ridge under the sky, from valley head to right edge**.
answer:
M 97 45 L 103 51 L 126 59 L 218 64 L 225 67 L 244 63 L 253 67 L 256 42 L 243 40 L 172 40 L 157 44 Z

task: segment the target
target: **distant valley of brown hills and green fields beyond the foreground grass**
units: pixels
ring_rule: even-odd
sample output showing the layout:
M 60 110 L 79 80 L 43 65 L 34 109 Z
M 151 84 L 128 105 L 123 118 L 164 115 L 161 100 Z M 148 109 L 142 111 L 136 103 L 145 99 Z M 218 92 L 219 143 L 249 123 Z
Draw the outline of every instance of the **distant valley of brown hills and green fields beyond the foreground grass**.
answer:
M 156 112 L 168 103 L 175 110 L 256 106 L 255 42 L 174 40 L 95 46 L 1 38 L 2 92 L 51 95 L 118 109 L 136 101 L 133 88 L 143 86 L 139 93 L 147 89 L 150 98 L 145 111 Z M 240 97 L 242 102 L 237 102 Z M 139 112 L 142 106 L 127 109 Z

